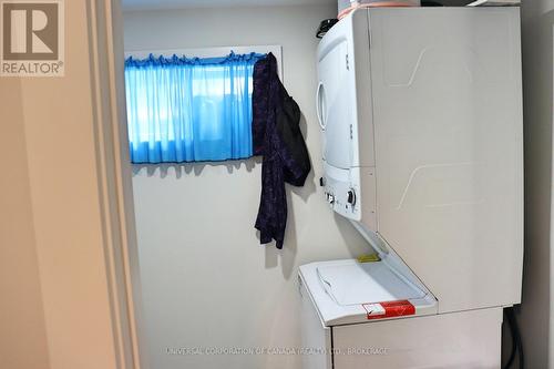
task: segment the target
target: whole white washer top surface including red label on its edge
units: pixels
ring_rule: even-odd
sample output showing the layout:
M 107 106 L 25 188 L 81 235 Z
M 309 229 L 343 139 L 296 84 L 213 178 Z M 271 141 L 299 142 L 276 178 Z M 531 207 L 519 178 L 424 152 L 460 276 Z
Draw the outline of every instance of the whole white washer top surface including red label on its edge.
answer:
M 327 327 L 437 314 L 438 303 L 424 287 L 391 265 L 360 264 L 355 259 L 311 263 L 300 266 L 304 285 Z

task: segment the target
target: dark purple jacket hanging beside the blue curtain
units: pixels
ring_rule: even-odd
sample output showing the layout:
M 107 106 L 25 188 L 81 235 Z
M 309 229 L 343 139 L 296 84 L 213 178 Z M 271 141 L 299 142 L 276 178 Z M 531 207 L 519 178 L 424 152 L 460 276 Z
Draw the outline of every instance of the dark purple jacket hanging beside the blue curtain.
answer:
M 271 53 L 254 66 L 253 114 L 254 154 L 264 156 L 256 228 L 261 244 L 275 239 L 277 248 L 283 248 L 287 226 L 285 182 L 304 186 L 311 165 L 299 126 L 300 109 L 280 82 Z

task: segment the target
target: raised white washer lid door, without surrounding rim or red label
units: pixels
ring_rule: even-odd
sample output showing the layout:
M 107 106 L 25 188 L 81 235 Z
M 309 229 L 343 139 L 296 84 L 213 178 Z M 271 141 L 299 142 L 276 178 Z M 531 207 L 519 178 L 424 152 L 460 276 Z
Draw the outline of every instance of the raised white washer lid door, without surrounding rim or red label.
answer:
M 423 298 L 425 293 L 402 280 L 383 262 L 321 265 L 318 277 L 341 306 Z

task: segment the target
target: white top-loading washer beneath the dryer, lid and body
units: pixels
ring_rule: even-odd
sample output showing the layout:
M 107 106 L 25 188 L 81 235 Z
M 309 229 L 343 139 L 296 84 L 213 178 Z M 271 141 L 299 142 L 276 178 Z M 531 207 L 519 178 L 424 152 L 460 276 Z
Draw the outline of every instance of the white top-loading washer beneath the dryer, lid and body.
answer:
M 379 263 L 300 267 L 305 369 L 500 368 L 502 308 L 437 315 L 425 291 Z M 414 315 L 368 319 L 371 301 L 406 299 Z

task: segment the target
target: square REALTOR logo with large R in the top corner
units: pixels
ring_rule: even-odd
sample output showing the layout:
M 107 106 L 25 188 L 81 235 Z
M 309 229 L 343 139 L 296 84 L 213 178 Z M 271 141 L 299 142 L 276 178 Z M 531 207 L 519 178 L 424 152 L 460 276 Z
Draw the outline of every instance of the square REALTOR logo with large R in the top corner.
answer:
M 63 75 L 61 0 L 3 0 L 0 20 L 0 75 Z

